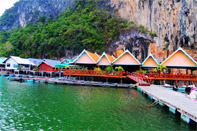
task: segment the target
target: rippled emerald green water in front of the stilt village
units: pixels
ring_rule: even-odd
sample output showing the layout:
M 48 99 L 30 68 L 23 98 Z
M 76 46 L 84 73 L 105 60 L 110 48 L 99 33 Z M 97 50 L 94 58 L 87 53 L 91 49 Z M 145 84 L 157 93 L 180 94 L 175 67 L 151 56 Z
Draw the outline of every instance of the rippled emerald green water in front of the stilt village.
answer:
M 134 89 L 31 84 L 0 77 L 0 130 L 191 130 Z M 195 130 L 195 129 L 194 129 Z

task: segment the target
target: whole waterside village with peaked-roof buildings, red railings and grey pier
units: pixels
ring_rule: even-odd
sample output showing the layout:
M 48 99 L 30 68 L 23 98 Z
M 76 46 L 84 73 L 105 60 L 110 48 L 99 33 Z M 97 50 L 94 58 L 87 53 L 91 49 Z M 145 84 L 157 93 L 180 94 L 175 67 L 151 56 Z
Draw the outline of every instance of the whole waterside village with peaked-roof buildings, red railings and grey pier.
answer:
M 141 63 L 125 50 L 117 58 L 83 50 L 73 59 L 0 58 L 0 74 L 9 81 L 135 88 L 189 124 L 197 123 L 197 99 L 188 93 L 197 82 L 197 62 L 181 47 L 163 62 L 149 54 Z M 190 108 L 188 108 L 190 107 Z

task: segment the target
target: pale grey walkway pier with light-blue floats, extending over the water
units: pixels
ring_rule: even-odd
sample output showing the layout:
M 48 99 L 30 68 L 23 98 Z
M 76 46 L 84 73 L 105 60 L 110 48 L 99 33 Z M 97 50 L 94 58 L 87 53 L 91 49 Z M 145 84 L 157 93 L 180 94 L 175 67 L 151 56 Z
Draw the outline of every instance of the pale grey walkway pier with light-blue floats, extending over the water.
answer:
M 181 119 L 187 123 L 191 122 L 190 119 L 197 123 L 197 101 L 190 100 L 185 94 L 159 85 L 139 86 L 138 90 L 158 101 L 160 105 L 168 106 L 173 113 L 178 111 Z

